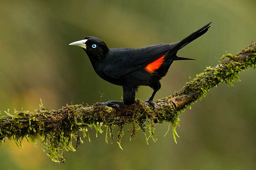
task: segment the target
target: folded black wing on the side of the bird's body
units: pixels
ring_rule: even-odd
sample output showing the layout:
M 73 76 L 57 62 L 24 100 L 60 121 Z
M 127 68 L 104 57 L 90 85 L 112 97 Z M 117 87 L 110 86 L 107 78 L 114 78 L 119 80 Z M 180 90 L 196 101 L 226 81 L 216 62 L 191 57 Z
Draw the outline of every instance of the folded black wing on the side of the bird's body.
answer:
M 108 77 L 121 77 L 144 68 L 166 54 L 173 44 L 151 45 L 143 48 L 111 48 L 103 61 L 103 73 Z

